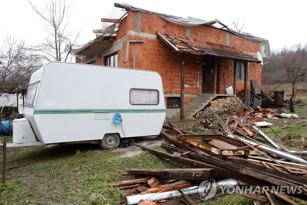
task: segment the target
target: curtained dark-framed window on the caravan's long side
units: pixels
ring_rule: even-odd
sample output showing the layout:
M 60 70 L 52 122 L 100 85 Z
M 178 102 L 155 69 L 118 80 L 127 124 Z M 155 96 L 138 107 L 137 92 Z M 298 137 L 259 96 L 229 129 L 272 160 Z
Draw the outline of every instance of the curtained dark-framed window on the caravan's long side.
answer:
M 157 105 L 159 104 L 159 91 L 132 88 L 130 90 L 130 104 Z

